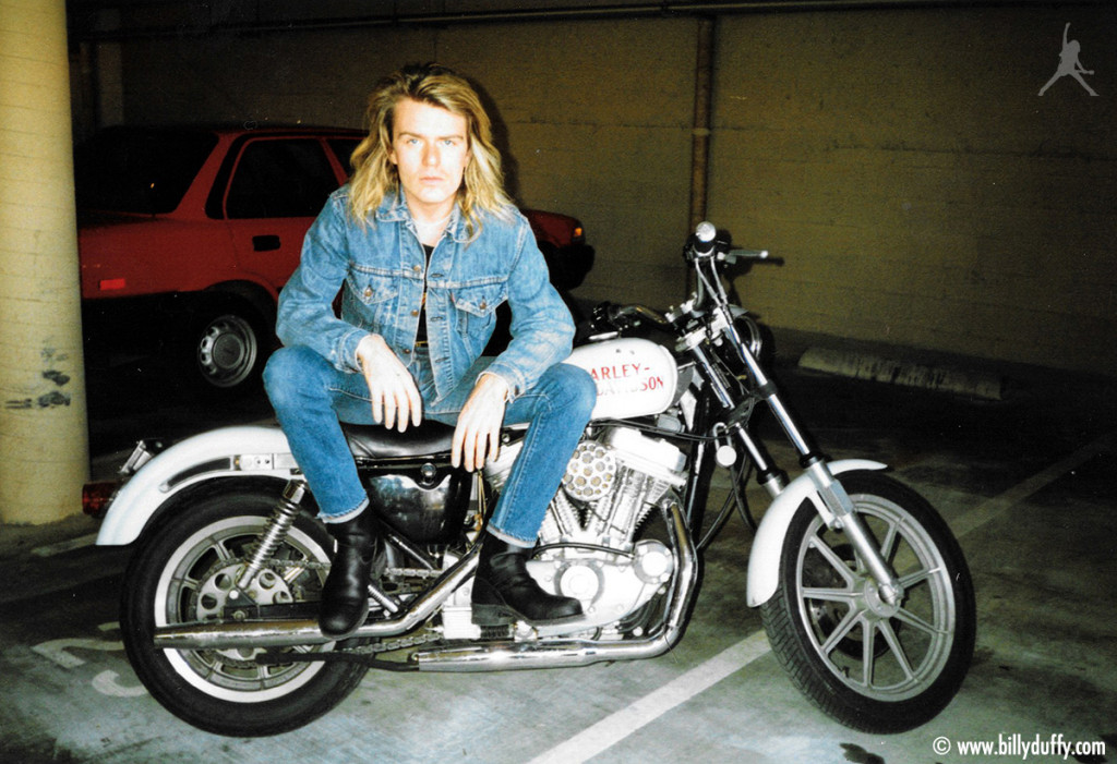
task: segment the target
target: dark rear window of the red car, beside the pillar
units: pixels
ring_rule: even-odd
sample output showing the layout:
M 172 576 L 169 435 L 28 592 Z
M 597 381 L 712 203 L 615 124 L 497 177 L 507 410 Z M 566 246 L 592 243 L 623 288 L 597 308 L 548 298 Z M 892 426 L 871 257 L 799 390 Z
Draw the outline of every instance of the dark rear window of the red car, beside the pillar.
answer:
M 107 129 L 78 147 L 82 210 L 163 214 L 179 206 L 217 136 L 206 132 Z

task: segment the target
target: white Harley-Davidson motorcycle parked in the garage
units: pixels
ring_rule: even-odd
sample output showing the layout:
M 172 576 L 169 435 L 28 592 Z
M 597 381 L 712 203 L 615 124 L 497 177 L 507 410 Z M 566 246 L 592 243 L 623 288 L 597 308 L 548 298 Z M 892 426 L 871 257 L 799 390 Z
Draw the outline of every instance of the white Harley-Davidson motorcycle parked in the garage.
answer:
M 577 598 L 574 623 L 478 627 L 475 540 L 523 438 L 506 428 L 481 474 L 450 464 L 452 428 L 345 426 L 376 512 L 370 615 L 351 637 L 316 615 L 333 541 L 275 426 L 141 441 L 122 468 L 99 544 L 135 543 L 121 627 L 152 696 L 202 729 L 273 735 L 327 713 L 370 668 L 496 671 L 653 658 L 681 638 L 701 554 L 750 474 L 771 495 L 756 524 L 746 602 L 772 650 L 822 712 L 869 733 L 936 716 L 975 638 L 963 553 L 928 502 L 866 460 L 828 461 L 762 362 L 764 332 L 722 278 L 779 262 L 733 249 L 709 223 L 684 249 L 697 288 L 659 312 L 604 304 L 565 361 L 599 398 L 528 567 Z M 757 435 L 765 404 L 800 457 L 789 480 Z M 705 518 L 715 470 L 731 496 Z

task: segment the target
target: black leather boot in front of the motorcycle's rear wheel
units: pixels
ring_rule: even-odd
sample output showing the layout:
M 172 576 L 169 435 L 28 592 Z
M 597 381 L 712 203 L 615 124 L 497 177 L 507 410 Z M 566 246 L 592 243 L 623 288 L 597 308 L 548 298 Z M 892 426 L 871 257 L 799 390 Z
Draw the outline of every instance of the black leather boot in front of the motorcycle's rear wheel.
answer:
M 372 510 L 344 523 L 326 523 L 326 530 L 337 540 L 337 553 L 322 587 L 318 628 L 327 637 L 344 637 L 369 615 L 369 576 L 376 551 Z

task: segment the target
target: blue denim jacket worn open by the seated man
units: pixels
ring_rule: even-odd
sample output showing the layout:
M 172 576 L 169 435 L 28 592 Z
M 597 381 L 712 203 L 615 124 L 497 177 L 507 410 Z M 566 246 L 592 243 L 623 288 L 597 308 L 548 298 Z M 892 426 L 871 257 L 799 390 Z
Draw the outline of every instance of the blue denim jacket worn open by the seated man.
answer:
M 379 333 L 408 364 L 416 346 L 423 287 L 427 339 L 438 398 L 481 355 L 497 306 L 512 308 L 512 341 L 487 368 L 518 396 L 570 355 L 574 323 L 552 287 L 527 220 L 480 213 L 468 240 L 455 207 L 428 268 L 401 195 L 388 195 L 365 225 L 349 212 L 349 186 L 335 191 L 303 243 L 298 268 L 279 296 L 276 332 L 313 348 L 342 371 L 360 371 L 356 346 Z M 341 318 L 333 301 L 342 290 Z

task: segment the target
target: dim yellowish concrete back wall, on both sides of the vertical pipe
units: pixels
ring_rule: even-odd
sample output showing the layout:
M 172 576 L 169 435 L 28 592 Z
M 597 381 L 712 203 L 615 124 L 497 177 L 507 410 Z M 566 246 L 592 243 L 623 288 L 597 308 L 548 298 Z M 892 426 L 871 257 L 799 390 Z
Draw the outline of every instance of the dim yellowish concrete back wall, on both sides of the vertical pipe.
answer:
M 1054 74 L 1063 25 L 1095 75 Z M 657 18 L 126 40 L 127 122 L 360 125 L 383 72 L 478 80 L 514 191 L 580 216 L 580 294 L 684 297 L 698 22 Z M 776 328 L 1117 373 L 1117 12 L 726 14 L 708 216 L 787 259 L 738 288 Z

